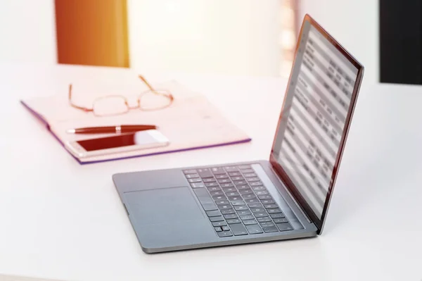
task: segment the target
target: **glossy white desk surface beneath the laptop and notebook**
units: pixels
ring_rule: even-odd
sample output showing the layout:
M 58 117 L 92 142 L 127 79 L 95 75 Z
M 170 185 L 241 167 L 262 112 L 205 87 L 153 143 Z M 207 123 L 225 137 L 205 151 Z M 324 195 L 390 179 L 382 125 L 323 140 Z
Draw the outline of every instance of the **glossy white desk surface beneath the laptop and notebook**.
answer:
M 80 166 L 18 102 L 106 70 L 0 68 L 0 273 L 60 280 L 421 280 L 422 87 L 363 87 L 321 237 L 143 254 L 117 172 L 267 158 L 286 83 L 177 75 L 249 144 Z

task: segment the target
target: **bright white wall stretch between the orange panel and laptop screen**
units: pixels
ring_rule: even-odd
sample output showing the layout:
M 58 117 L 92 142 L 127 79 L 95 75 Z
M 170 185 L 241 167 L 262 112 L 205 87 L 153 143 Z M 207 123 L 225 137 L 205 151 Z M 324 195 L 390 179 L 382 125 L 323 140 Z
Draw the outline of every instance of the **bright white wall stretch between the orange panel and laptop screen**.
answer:
M 279 74 L 280 0 L 128 0 L 131 66 Z

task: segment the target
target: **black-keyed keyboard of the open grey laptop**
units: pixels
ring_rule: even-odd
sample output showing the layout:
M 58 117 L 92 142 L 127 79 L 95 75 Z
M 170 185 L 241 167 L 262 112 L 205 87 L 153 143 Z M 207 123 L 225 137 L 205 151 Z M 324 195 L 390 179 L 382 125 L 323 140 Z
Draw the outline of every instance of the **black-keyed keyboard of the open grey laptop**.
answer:
M 293 230 L 250 165 L 184 170 L 219 237 Z

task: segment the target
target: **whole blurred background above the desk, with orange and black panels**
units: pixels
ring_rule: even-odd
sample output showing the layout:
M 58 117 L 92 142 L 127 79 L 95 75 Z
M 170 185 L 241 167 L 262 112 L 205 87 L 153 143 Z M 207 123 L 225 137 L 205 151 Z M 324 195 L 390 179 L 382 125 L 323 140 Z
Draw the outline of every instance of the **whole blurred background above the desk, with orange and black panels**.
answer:
M 2 0 L 0 63 L 287 77 L 309 13 L 364 64 L 365 83 L 421 84 L 421 1 L 400 2 Z

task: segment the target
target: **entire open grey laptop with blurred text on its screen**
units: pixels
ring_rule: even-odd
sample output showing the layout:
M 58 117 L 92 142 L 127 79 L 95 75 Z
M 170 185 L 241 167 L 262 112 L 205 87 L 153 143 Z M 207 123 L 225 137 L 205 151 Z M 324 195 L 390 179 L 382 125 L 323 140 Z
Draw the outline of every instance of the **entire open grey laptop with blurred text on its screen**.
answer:
M 113 175 L 143 251 L 320 235 L 363 73 L 305 15 L 268 160 Z

